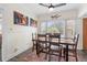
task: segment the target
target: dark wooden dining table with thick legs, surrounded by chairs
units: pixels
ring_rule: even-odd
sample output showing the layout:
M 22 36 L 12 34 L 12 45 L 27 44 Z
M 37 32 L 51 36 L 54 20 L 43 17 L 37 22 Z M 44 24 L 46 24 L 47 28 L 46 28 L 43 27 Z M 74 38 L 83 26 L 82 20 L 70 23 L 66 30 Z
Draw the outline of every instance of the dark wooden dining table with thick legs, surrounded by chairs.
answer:
M 48 37 L 48 36 L 47 36 Z M 50 41 L 45 41 L 46 43 L 50 43 Z M 56 42 L 56 40 L 54 41 Z M 61 45 L 65 45 L 65 48 L 66 48 L 66 54 L 65 54 L 65 61 L 68 62 L 68 46 L 69 45 L 75 45 L 74 41 L 70 40 L 70 39 L 66 39 L 66 37 L 63 37 L 61 39 L 59 43 Z M 57 42 L 56 42 L 56 45 L 57 45 Z M 36 43 L 36 54 L 37 54 L 37 43 Z

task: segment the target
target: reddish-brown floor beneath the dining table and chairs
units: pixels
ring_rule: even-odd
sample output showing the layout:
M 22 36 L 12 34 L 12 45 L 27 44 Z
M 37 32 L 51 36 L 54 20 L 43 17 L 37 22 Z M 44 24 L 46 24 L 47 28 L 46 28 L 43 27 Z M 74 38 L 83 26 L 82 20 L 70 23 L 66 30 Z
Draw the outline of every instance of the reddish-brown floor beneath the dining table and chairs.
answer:
M 35 51 L 32 52 L 31 50 L 28 50 L 22 54 L 11 58 L 9 62 L 47 62 L 44 56 L 44 54 L 41 54 L 40 57 L 37 57 Z M 78 51 L 78 61 L 87 62 L 87 53 Z M 58 62 L 58 58 L 56 56 L 52 56 L 52 62 Z M 65 62 L 64 58 L 62 58 L 62 62 Z M 75 62 L 75 58 L 69 57 L 69 62 Z

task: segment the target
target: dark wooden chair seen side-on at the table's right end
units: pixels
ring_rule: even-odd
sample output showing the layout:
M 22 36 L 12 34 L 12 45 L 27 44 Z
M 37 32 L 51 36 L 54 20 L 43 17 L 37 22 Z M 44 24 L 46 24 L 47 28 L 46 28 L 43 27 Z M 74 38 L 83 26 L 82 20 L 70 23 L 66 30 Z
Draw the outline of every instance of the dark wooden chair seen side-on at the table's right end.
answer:
M 79 39 L 79 34 L 75 34 L 74 39 L 73 39 L 74 44 L 68 46 L 68 56 L 75 57 L 76 62 L 78 61 L 78 57 L 77 57 L 78 39 Z M 66 48 L 64 47 L 64 57 L 65 57 L 65 54 L 66 54 L 65 51 L 66 51 Z

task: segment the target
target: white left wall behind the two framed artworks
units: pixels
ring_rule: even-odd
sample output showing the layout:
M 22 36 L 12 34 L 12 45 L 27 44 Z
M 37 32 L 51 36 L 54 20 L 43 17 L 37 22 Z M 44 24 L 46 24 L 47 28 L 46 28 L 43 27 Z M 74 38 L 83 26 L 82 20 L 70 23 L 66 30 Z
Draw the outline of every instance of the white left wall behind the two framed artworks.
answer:
M 3 9 L 2 61 L 8 61 L 32 47 L 32 31 L 36 30 L 31 26 L 13 24 L 13 11 L 29 18 L 35 19 L 35 15 L 25 4 L 3 4 Z

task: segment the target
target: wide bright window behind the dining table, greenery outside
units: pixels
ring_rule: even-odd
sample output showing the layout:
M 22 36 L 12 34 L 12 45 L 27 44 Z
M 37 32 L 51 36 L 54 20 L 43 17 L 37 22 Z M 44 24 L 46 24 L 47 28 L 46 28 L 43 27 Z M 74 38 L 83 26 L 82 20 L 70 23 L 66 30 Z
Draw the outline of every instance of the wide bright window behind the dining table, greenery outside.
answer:
M 61 33 L 62 37 L 72 37 L 75 33 L 75 20 L 55 20 L 41 23 L 41 33 Z

